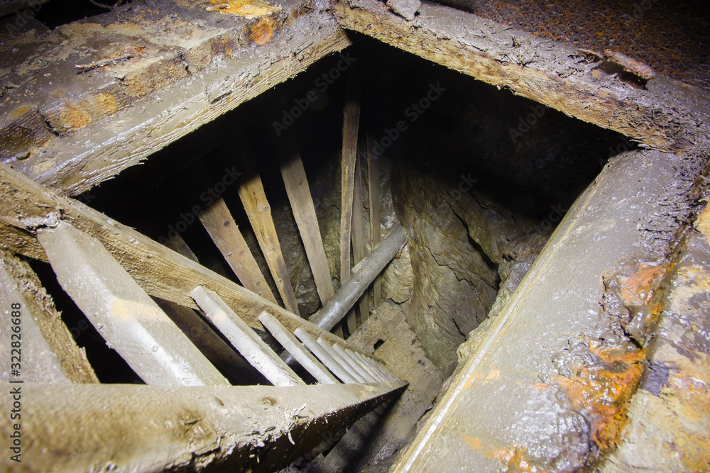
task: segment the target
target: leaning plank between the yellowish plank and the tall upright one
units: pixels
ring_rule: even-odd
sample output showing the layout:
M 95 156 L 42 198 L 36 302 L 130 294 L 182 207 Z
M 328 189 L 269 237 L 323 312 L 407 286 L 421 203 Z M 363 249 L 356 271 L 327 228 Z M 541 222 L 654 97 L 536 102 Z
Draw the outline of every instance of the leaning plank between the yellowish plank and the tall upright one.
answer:
M 277 139 L 275 143 L 281 176 L 288 200 L 291 203 L 293 218 L 298 226 L 303 247 L 305 247 L 318 296 L 321 303 L 325 304 L 335 293 L 333 279 L 330 275 L 318 218 L 315 214 L 308 178 L 303 168 L 298 145 L 291 130 L 282 133 L 280 139 Z

